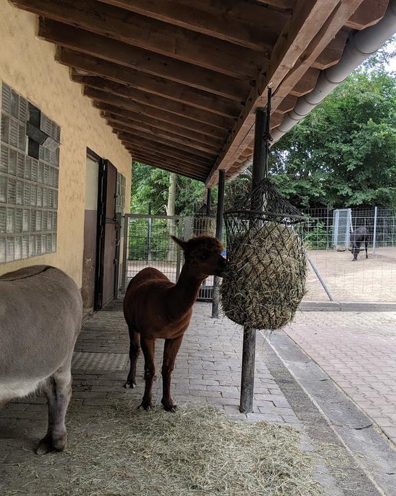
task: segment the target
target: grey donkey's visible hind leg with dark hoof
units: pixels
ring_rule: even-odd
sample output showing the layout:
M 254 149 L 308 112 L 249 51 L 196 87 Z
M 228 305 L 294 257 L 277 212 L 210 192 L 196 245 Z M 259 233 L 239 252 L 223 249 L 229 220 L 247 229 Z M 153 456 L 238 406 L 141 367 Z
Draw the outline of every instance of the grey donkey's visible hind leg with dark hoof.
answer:
M 36 449 L 37 455 L 50 451 L 62 451 L 66 446 L 65 416 L 72 396 L 72 373 L 70 361 L 58 369 L 45 383 L 44 390 L 48 402 L 47 434 Z

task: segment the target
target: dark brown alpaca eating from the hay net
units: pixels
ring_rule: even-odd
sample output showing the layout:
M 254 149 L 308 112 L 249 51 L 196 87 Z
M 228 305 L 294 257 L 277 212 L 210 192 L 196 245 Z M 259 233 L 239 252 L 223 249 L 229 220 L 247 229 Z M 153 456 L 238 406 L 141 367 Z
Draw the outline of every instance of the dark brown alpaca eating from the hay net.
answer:
M 165 340 L 162 363 L 164 409 L 175 411 L 176 405 L 170 396 L 170 377 L 175 366 L 177 351 L 192 315 L 192 305 L 197 300 L 201 282 L 208 276 L 221 276 L 225 260 L 221 256 L 223 247 L 216 238 L 199 236 L 182 241 L 173 240 L 184 251 L 185 262 L 177 284 L 170 282 L 157 269 L 143 269 L 129 282 L 124 297 L 124 317 L 129 328 L 129 358 L 131 369 L 125 387 L 136 384 L 136 362 L 140 346 L 144 354 L 144 380 L 146 383 L 142 404 L 151 408 L 151 388 L 155 375 L 155 340 Z

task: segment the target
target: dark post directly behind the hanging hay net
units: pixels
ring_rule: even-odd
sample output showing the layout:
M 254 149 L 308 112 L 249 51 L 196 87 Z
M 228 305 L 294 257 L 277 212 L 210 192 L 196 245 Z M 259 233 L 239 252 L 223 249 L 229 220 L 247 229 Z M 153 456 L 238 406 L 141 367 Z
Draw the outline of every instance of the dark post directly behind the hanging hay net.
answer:
M 270 95 L 269 95 L 270 96 Z M 270 104 L 270 98 L 269 104 Z M 252 190 L 267 177 L 267 156 L 268 156 L 268 136 L 270 133 L 269 119 L 267 112 L 270 112 L 270 105 L 267 109 L 258 108 L 256 110 L 256 127 L 254 129 L 254 152 L 252 168 Z M 252 198 L 252 210 L 263 208 L 264 198 Z M 250 413 L 253 411 L 254 396 L 254 362 L 256 358 L 256 329 L 243 327 L 243 348 L 242 348 L 242 373 L 241 373 L 241 400 L 239 411 Z

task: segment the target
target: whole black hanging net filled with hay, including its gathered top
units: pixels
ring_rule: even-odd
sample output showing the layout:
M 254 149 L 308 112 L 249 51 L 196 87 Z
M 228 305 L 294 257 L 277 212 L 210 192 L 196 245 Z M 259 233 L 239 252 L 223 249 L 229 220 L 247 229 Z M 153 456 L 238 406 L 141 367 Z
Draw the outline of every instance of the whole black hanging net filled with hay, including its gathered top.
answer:
M 305 293 L 307 265 L 299 235 L 305 218 L 265 178 L 224 213 L 224 220 L 225 315 L 253 329 L 281 329 L 294 318 Z

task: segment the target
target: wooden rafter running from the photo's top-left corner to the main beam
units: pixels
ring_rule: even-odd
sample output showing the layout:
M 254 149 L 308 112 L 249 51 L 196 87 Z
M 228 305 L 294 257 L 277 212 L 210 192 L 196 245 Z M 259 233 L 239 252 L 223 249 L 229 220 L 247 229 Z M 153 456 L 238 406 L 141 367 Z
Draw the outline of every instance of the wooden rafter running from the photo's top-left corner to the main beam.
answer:
M 228 76 L 252 79 L 267 63 L 263 53 L 221 40 L 213 50 L 213 40 L 206 34 L 192 33 L 100 2 L 12 0 L 12 3 L 42 17 Z

